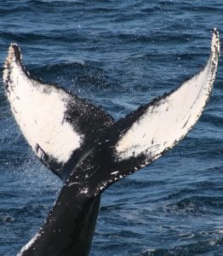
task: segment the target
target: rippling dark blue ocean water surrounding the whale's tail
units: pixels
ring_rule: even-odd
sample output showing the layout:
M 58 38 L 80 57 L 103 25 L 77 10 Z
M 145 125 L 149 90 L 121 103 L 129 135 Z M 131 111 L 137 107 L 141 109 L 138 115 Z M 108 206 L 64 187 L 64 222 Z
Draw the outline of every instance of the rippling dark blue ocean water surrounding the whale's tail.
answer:
M 1 1 L 0 70 L 16 42 L 33 76 L 119 119 L 203 67 L 222 15 L 222 0 Z M 1 75 L 0 255 L 31 239 L 60 188 L 15 124 Z M 223 255 L 222 59 L 188 136 L 103 193 L 90 255 Z

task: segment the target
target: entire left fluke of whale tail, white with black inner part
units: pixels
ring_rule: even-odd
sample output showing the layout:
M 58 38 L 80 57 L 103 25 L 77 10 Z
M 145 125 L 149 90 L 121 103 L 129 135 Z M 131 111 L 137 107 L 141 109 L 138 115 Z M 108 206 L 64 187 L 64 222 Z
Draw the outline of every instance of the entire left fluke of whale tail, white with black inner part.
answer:
M 3 82 L 26 141 L 43 164 L 64 180 L 79 160 L 84 144 L 94 143 L 113 123 L 108 113 L 70 91 L 31 79 L 17 44 L 9 47 Z

